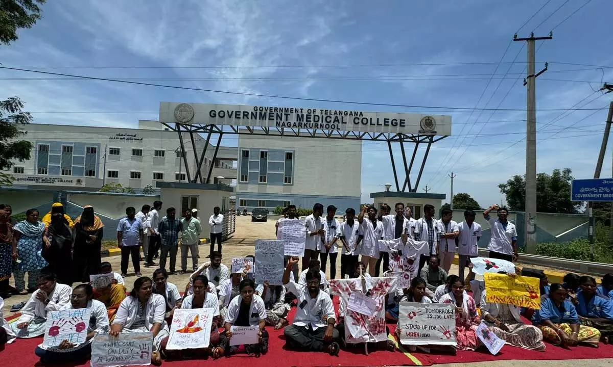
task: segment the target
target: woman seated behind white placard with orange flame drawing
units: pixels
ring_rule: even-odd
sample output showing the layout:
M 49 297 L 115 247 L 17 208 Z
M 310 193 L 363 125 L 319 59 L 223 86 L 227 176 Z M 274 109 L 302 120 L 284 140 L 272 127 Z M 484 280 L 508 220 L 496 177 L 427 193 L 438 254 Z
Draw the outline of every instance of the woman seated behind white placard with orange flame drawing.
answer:
M 212 355 L 213 358 L 219 358 L 224 355 L 224 348 L 219 346 L 219 332 L 217 330 L 219 319 L 219 305 L 217 297 L 208 292 L 208 279 L 206 275 L 198 275 L 194 279 L 193 289 L 194 294 L 183 298 L 181 310 L 191 310 L 192 308 L 213 308 L 213 322 L 211 322 L 211 335 L 208 342 L 208 347 L 196 350 L 181 350 L 182 357 L 194 354 L 194 357 L 205 357 Z M 212 351 L 212 352 L 211 352 Z

